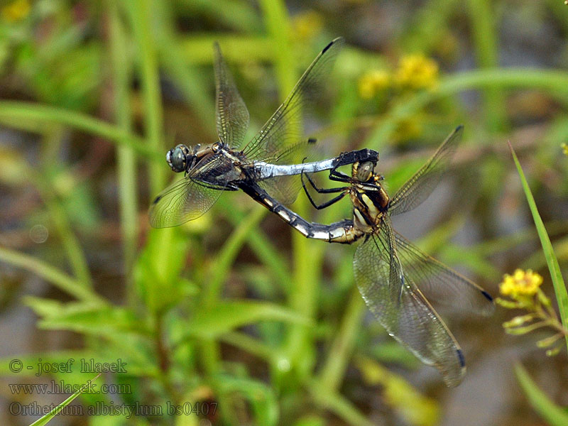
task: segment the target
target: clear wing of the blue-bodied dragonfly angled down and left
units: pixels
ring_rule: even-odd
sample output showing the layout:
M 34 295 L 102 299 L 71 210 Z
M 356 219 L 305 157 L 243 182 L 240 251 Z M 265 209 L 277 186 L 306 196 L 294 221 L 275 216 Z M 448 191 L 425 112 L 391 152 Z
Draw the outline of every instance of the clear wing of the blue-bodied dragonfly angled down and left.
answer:
M 150 206 L 150 224 L 154 228 L 178 226 L 197 219 L 217 201 L 228 182 L 216 179 L 232 168 L 221 155 L 197 165 L 184 178 L 173 182 L 155 197 Z

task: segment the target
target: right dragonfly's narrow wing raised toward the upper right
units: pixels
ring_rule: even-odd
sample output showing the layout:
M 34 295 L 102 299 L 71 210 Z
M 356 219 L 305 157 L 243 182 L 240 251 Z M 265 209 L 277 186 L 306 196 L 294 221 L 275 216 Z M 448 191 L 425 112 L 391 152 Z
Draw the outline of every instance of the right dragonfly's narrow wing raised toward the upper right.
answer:
M 430 196 L 448 168 L 463 129 L 463 126 L 458 126 L 442 142 L 430 160 L 395 193 L 388 209 L 391 216 L 414 209 Z

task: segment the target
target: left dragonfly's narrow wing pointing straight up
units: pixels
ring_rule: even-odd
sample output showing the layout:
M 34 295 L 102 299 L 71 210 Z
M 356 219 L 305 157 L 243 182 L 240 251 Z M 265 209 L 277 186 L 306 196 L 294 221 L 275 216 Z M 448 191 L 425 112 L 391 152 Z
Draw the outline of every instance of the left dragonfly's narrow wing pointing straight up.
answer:
M 219 139 L 231 148 L 240 148 L 249 127 L 249 110 L 223 59 L 219 43 L 214 45 L 215 116 Z

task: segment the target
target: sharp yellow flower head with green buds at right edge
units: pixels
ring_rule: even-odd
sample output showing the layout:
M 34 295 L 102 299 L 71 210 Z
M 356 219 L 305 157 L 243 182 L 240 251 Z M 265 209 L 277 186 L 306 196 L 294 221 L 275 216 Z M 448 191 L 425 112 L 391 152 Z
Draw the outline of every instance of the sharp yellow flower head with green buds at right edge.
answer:
M 560 338 L 568 336 L 568 330 L 558 320 L 550 299 L 542 293 L 541 284 L 542 276 L 539 274 L 530 269 L 517 269 L 513 275 L 505 274 L 499 285 L 501 295 L 510 297 L 510 300 L 498 297 L 496 302 L 508 309 L 528 312 L 503 322 L 503 328 L 508 334 L 526 334 L 542 327 L 554 329 L 555 334 L 537 342 L 538 347 L 551 348 L 547 349 L 547 355 L 553 355 L 559 351 L 557 343 Z

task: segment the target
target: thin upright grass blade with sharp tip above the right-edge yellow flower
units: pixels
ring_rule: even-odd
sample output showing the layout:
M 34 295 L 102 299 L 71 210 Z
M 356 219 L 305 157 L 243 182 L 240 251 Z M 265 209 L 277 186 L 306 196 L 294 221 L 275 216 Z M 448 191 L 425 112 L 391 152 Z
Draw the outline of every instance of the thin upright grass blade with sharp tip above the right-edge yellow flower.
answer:
M 520 167 L 519 160 L 513 150 L 513 146 L 509 143 L 509 149 L 511 155 L 513 155 L 513 160 L 515 161 L 515 166 L 519 173 L 520 182 L 523 184 L 523 190 L 525 191 L 525 197 L 527 198 L 528 206 L 532 214 L 532 219 L 535 221 L 535 226 L 537 228 L 538 237 L 540 239 L 540 244 L 542 246 L 542 251 L 545 253 L 546 263 L 548 265 L 548 270 L 550 271 L 550 278 L 552 278 L 552 285 L 555 288 L 556 300 L 558 302 L 558 308 L 560 311 L 560 318 L 562 319 L 562 325 L 564 328 L 568 327 L 568 293 L 566 291 L 566 285 L 564 284 L 564 278 L 562 278 L 562 273 L 560 272 L 560 266 L 558 264 L 558 259 L 555 255 L 554 249 L 552 249 L 552 244 L 550 243 L 550 238 L 547 234 L 545 224 L 538 214 L 537 204 L 535 203 L 535 198 L 532 197 L 532 192 L 530 192 L 530 187 L 525 178 L 525 173 L 523 173 L 523 168 Z M 568 347 L 568 335 L 565 336 L 566 345 Z

